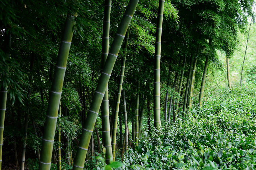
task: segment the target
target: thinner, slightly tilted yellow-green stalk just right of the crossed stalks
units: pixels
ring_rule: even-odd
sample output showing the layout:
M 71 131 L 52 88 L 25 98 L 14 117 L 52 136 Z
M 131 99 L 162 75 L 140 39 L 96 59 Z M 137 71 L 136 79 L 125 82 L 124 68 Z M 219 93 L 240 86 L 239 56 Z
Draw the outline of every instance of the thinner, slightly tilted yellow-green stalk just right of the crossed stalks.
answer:
M 117 91 L 117 101 L 116 101 L 116 104 L 115 104 L 115 116 L 114 116 L 114 119 L 113 119 L 114 120 L 114 122 L 113 122 L 113 129 L 112 129 L 113 161 L 115 161 L 115 144 L 116 144 L 117 118 L 118 118 L 119 104 L 120 104 L 120 98 L 121 98 L 121 92 L 122 92 L 122 86 L 123 86 L 123 75 L 124 75 L 124 70 L 125 70 L 125 60 L 126 60 L 129 32 L 130 32 L 130 29 L 128 28 L 126 36 L 125 36 L 125 42 L 124 42 L 125 53 L 124 53 L 124 57 L 122 59 L 122 65 L 121 65 L 121 71 L 120 71 L 120 77 L 119 77 L 119 85 L 118 85 L 118 91 Z

